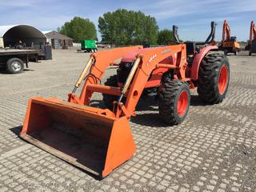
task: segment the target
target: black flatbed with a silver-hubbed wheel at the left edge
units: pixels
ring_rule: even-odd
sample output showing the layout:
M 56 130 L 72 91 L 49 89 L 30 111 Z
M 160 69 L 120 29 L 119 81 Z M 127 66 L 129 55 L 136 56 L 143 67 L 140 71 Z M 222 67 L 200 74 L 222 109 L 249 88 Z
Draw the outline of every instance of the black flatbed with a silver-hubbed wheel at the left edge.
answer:
M 38 62 L 38 50 L 0 49 L 0 67 L 6 68 L 10 74 L 19 74 L 24 70 L 25 64 Z

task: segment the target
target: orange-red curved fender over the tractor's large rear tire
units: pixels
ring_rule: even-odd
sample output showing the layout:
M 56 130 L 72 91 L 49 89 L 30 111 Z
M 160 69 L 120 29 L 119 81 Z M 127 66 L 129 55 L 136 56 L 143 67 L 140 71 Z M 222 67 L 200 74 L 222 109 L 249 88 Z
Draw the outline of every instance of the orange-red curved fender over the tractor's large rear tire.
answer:
M 202 59 L 208 54 L 210 50 L 218 50 L 218 46 L 205 46 L 201 51 L 194 56 L 194 61 L 191 67 L 191 79 L 198 80 L 198 71 L 199 66 L 202 62 Z

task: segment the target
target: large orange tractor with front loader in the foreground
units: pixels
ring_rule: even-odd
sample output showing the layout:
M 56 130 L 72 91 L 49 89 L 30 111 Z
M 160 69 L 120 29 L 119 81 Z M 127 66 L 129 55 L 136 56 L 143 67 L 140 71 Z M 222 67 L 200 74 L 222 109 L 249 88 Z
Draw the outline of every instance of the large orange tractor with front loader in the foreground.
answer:
M 209 53 L 218 47 L 209 46 L 211 42 L 175 43 L 91 54 L 68 101 L 30 98 L 21 137 L 82 170 L 100 177 L 110 174 L 135 153 L 129 120 L 142 93 L 155 91 L 159 117 L 171 125 L 186 118 L 190 89 L 197 86 L 199 97 L 208 103 L 226 96 L 229 62 L 223 54 Z M 118 66 L 117 74 L 102 85 L 109 66 Z M 78 97 L 75 92 L 82 83 Z M 106 108 L 90 106 L 96 92 L 103 94 Z

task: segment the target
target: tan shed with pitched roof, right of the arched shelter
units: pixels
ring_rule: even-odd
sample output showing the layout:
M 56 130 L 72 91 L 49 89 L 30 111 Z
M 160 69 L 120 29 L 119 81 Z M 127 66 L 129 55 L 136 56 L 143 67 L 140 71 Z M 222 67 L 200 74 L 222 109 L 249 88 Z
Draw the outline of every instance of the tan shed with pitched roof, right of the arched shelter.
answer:
M 64 34 L 60 34 L 57 31 L 51 31 L 49 33 L 46 33 L 46 37 L 49 39 L 49 42 L 51 43 L 52 48 L 58 49 L 58 48 L 68 48 L 69 46 L 73 46 L 73 39 L 67 37 Z

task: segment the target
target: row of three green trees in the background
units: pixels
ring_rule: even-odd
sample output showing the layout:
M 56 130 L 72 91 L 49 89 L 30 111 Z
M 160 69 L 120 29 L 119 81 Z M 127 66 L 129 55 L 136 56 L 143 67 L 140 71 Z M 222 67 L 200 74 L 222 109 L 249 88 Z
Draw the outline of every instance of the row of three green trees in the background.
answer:
M 102 42 L 108 44 L 138 45 L 148 42 L 151 45 L 166 45 L 173 41 L 172 30 L 159 30 L 156 19 L 141 11 L 118 9 L 107 12 L 98 18 L 98 30 Z M 74 17 L 58 31 L 73 38 L 74 42 L 97 39 L 96 27 L 89 18 Z

